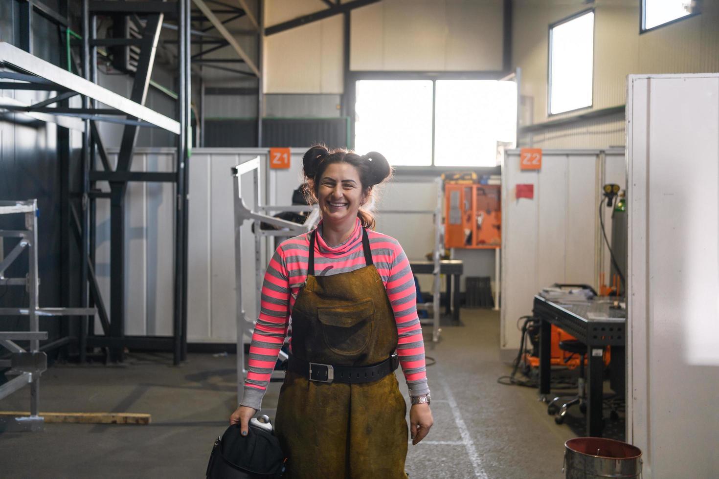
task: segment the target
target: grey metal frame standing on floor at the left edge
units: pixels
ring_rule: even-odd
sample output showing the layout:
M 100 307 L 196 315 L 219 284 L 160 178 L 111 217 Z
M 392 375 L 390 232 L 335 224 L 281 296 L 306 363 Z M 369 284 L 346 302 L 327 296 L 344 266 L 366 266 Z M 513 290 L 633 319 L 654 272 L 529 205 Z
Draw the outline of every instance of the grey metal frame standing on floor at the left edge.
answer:
M 47 339 L 47 331 L 40 331 L 39 316 L 88 316 L 95 315 L 95 308 L 86 307 L 40 307 L 40 277 L 37 275 L 37 200 L 0 201 L 0 215 L 21 214 L 25 217 L 24 230 L 0 230 L 0 284 L 22 286 L 27 289 L 27 307 L 0 307 L 0 315 L 29 317 L 29 331 L 0 331 L 0 346 L 10 350 L 9 360 L 0 360 L 0 367 L 10 367 L 17 376 L 0 386 L 0 399 L 30 385 L 30 416 L 0 417 L 0 430 L 42 431 L 43 418 L 39 415 L 40 375 L 47 369 L 47 355 L 40 351 L 40 340 Z M 7 256 L 3 257 L 4 238 L 19 241 Z M 27 276 L 6 278 L 4 272 L 24 251 L 28 250 Z M 26 350 L 15 341 L 29 340 Z

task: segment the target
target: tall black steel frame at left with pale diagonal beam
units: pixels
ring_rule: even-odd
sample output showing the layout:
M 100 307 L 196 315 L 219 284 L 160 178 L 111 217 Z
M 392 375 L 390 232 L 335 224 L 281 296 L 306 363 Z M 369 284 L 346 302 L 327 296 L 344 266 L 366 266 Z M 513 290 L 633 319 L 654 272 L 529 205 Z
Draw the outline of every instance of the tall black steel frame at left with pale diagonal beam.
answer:
M 47 9 L 35 1 L 21 5 L 19 18 L 20 47 L 0 42 L 0 89 L 3 90 L 45 90 L 55 95 L 45 101 L 32 105 L 22 104 L 13 98 L 0 96 L 0 108 L 7 111 L 19 111 L 24 115 L 15 116 L 16 121 L 55 121 L 65 129 L 83 131 L 82 190 L 81 207 L 76 208 L 69 197 L 63 199 L 63 208 L 68 210 L 70 225 L 63 225 L 63 235 L 74 233 L 81 249 L 81 302 L 87 307 L 96 307 L 104 335 L 94 335 L 94 321 L 89 317 L 81 321 L 79 339 L 80 360 L 86 360 L 88 347 L 109 348 L 113 361 L 122 361 L 124 348 L 157 347 L 170 348 L 174 352 L 174 362 L 178 364 L 186 358 L 187 330 L 187 185 L 189 157 L 188 131 L 190 126 L 190 1 L 178 0 L 176 3 L 164 1 L 90 1 L 83 0 L 82 65 L 75 65 L 83 77 L 58 68 L 49 62 L 32 55 L 32 11 L 40 11 L 49 18 L 60 17 L 56 23 L 60 32 L 67 30 L 67 18 Z M 60 6 L 65 6 L 60 2 Z M 38 10 L 40 9 L 40 10 Z M 50 13 L 48 13 L 50 11 Z M 132 17 L 141 32 L 140 38 L 111 39 L 96 38 L 98 15 L 110 14 L 114 19 Z M 150 75 L 155 60 L 155 51 L 165 14 L 178 20 L 178 121 L 163 116 L 144 106 Z M 144 22 L 137 15 L 145 17 Z M 117 32 L 116 32 L 117 33 Z M 69 30 L 68 30 L 69 34 Z M 137 68 L 130 98 L 97 85 L 97 47 L 139 47 Z M 70 68 L 68 59 L 68 70 Z M 8 70 L 9 69 L 9 70 Z M 80 107 L 70 107 L 68 99 L 81 95 Z M 102 107 L 99 107 L 102 103 Z M 122 144 L 115 169 L 111 169 L 109 159 L 102 144 L 96 121 L 111 121 L 124 124 Z M 137 128 L 139 126 L 159 127 L 177 134 L 178 155 L 175 172 L 152 173 L 130 172 Z M 65 134 L 67 136 L 67 134 Z M 96 160 L 102 165 L 96 171 Z M 107 181 L 109 192 L 96 188 L 96 181 Z M 175 208 L 175 303 L 173 318 L 173 336 L 167 338 L 129 338 L 124 335 L 124 195 L 127 182 L 174 182 L 176 185 Z M 96 200 L 109 199 L 111 203 L 111 296 L 109 310 L 101 297 L 94 272 L 95 251 L 95 213 Z M 65 205 L 66 203 L 66 205 Z M 72 231 L 72 233 L 70 233 Z M 64 254 L 67 254 L 65 252 Z M 94 315 L 93 309 L 93 315 Z M 49 312 L 49 311 L 48 311 Z M 2 311 L 0 310 L 0 314 Z M 37 312 L 42 314 L 42 312 Z M 86 313 L 75 312 L 86 316 Z M 69 334 L 69 331 L 68 331 Z M 55 345 L 65 345 L 74 338 L 62 338 Z M 132 343 L 132 344 L 131 344 Z M 147 343 L 147 344 L 145 344 Z

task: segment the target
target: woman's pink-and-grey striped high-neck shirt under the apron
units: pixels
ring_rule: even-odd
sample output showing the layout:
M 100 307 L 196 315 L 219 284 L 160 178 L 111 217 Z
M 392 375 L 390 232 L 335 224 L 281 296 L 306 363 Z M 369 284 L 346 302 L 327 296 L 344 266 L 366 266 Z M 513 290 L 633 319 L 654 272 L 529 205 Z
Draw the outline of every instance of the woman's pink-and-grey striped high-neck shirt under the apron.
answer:
M 319 229 L 321 231 L 321 227 Z M 267 265 L 262 284 L 260 318 L 249 345 L 249 366 L 244 381 L 242 405 L 260 409 L 270 375 L 288 330 L 295 299 L 307 278 L 310 234 L 290 238 L 278 246 Z M 429 393 L 424 361 L 422 329 L 417 317 L 414 277 L 409 261 L 395 238 L 368 230 L 372 261 L 387 289 L 397 323 L 400 366 L 410 396 Z M 329 276 L 365 266 L 362 251 L 362 225 L 355 223 L 352 235 L 344 243 L 329 247 L 321 234 L 315 246 L 315 274 Z M 291 349 L 291 338 L 290 338 Z

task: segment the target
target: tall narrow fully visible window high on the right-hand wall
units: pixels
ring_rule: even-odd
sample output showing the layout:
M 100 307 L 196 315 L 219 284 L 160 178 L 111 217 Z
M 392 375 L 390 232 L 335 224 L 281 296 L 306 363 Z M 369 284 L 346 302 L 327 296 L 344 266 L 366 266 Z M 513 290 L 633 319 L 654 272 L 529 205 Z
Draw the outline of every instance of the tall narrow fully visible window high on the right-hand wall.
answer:
M 594 11 L 549 27 L 549 113 L 592 106 Z

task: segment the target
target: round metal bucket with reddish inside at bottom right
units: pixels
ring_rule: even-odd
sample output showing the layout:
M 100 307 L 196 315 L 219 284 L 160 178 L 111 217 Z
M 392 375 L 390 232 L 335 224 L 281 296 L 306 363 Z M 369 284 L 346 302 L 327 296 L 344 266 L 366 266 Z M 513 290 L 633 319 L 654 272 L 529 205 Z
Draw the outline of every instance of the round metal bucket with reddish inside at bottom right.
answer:
M 602 437 L 575 437 L 564 443 L 566 479 L 640 478 L 641 450 Z

